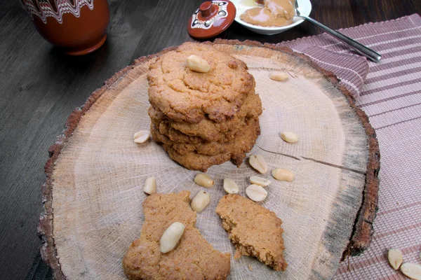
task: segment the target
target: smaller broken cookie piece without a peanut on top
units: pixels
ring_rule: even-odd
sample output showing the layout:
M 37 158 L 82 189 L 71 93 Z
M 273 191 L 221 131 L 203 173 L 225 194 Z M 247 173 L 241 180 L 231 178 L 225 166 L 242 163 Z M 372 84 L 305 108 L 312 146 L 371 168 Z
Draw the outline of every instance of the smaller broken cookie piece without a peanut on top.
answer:
M 282 221 L 274 212 L 241 195 L 225 195 L 216 213 L 236 246 L 236 256 L 250 255 L 276 271 L 285 271 Z

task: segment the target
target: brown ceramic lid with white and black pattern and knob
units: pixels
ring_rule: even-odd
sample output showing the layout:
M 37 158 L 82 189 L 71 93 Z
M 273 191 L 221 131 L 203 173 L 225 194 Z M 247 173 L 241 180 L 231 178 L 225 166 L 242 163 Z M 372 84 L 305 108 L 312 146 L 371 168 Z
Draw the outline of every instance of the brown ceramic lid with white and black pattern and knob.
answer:
M 236 8 L 231 1 L 206 1 L 193 13 L 187 30 L 193 38 L 210 38 L 227 29 L 235 14 Z

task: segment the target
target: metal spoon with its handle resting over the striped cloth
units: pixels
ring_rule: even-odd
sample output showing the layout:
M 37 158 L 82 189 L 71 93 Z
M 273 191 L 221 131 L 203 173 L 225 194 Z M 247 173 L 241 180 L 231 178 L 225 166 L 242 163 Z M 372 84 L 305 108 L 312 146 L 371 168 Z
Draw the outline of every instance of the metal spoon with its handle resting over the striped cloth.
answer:
M 353 48 L 354 50 L 359 52 L 361 55 L 367 57 L 371 61 L 379 62 L 379 60 L 382 58 L 382 55 L 380 55 L 380 53 L 375 52 L 374 50 L 372 50 L 370 48 L 367 48 L 365 45 L 361 45 L 361 43 L 358 43 L 357 41 L 352 40 L 352 38 L 349 38 L 348 36 L 345 36 L 344 34 L 327 27 L 326 25 L 322 25 L 317 20 L 313 20 L 312 18 L 307 17 L 307 15 L 301 15 L 300 7 L 298 7 L 298 0 L 295 0 L 295 13 L 297 14 L 296 16 L 298 16 L 300 18 L 303 18 L 303 19 L 307 20 L 308 22 L 312 23 L 313 25 L 316 25 L 316 27 L 319 27 L 319 28 L 323 29 L 328 34 L 330 34 L 330 35 L 338 38 L 340 41 L 346 43 L 351 48 Z

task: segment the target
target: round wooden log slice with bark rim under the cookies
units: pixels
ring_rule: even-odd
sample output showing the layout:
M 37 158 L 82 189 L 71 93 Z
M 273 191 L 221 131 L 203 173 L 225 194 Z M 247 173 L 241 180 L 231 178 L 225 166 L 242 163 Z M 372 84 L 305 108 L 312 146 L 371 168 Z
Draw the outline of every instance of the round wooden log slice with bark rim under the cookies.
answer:
M 269 169 L 295 173 L 289 183 L 268 172 L 272 184 L 262 202 L 283 221 L 288 269 L 275 272 L 243 257 L 232 259 L 231 278 L 329 279 L 344 252 L 359 253 L 370 243 L 380 160 L 375 132 L 338 79 L 305 55 L 255 42 L 216 41 L 215 47 L 242 59 L 255 77 L 264 111 L 251 153 L 263 155 Z M 146 75 L 161 53 L 137 59 L 93 92 L 49 150 L 39 235 L 56 279 L 125 278 L 121 260 L 140 236 L 147 177 L 156 177 L 159 193 L 201 190 L 193 182 L 196 172 L 173 162 L 161 146 L 133 142 L 135 132 L 149 130 Z M 270 80 L 274 70 L 291 76 Z M 300 141 L 282 141 L 282 131 L 297 133 Z M 208 174 L 215 179 L 208 189 L 212 199 L 196 225 L 216 249 L 234 255 L 215 214 L 225 195 L 222 180 L 234 179 L 246 195 L 256 172 L 247 162 L 238 169 L 226 162 Z

